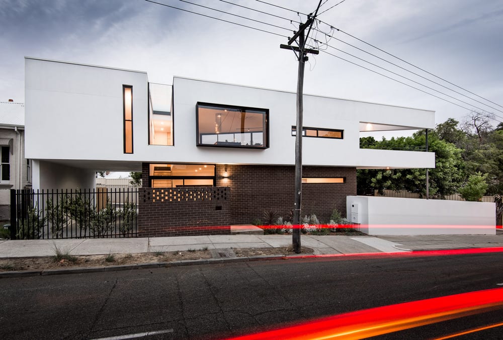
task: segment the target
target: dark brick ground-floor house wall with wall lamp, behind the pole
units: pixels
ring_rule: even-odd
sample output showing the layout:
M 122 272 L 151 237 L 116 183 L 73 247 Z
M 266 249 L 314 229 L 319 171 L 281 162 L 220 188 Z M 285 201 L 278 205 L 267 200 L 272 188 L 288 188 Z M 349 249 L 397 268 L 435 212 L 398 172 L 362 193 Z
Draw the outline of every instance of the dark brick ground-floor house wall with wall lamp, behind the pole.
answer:
M 229 177 L 221 178 L 225 168 Z M 231 222 L 250 223 L 266 210 L 285 216 L 293 208 L 294 166 L 217 165 L 217 186 L 228 186 L 231 197 Z M 346 183 L 302 184 L 302 215 L 314 213 L 328 221 L 334 208 L 346 215 L 346 196 L 356 195 L 356 168 L 310 167 L 303 177 L 346 177 Z

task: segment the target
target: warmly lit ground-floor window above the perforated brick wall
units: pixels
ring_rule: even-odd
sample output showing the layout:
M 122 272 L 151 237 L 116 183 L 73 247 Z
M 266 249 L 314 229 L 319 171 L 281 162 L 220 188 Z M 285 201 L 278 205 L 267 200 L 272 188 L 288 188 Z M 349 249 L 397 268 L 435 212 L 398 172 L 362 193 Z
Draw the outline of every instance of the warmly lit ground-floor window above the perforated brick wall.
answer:
M 152 188 L 215 186 L 215 165 L 150 164 L 149 182 Z

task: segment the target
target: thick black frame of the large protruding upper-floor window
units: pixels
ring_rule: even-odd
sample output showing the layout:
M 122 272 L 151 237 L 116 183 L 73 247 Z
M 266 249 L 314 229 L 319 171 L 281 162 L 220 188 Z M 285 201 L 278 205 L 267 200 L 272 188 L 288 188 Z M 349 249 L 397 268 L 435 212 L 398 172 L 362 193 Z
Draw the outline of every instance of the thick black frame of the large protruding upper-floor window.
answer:
M 262 146 L 252 146 L 252 145 L 222 145 L 222 144 L 203 144 L 199 142 L 199 106 L 213 106 L 215 108 L 230 108 L 230 109 L 244 109 L 244 110 L 254 110 L 254 111 L 263 111 L 262 114 L 264 116 L 263 123 L 265 124 L 265 132 L 264 128 L 262 130 L 263 142 Z M 202 134 L 204 135 L 204 134 Z M 207 133 L 210 135 L 210 133 Z M 202 147 L 214 147 L 214 148 L 234 148 L 234 149 L 258 149 L 265 150 L 269 149 L 269 109 L 268 108 L 260 108 L 260 107 L 251 107 L 251 106 L 238 106 L 238 105 L 226 105 L 226 104 L 216 104 L 216 103 L 208 103 L 198 101 L 196 103 L 196 146 Z

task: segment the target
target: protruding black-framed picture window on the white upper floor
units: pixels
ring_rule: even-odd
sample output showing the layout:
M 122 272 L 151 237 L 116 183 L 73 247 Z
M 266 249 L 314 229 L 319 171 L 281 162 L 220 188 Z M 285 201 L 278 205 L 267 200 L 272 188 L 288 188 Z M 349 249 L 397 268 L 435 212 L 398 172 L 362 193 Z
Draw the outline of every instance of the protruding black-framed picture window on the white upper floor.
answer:
M 269 109 L 198 102 L 197 146 L 269 148 Z

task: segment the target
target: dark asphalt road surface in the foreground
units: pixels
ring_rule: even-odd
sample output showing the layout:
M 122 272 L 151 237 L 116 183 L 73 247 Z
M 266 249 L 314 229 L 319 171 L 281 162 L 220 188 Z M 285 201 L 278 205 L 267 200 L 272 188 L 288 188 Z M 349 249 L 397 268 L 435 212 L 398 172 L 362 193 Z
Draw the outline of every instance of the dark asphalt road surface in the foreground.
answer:
M 370 307 L 498 288 L 503 254 L 302 259 L 0 280 L 0 338 L 210 339 Z M 378 338 L 423 339 L 503 311 Z M 503 338 L 503 328 L 464 338 Z M 498 336 L 499 334 L 499 336 Z M 483 335 L 483 336 L 482 336 Z M 496 336 L 496 337 L 494 337 Z

